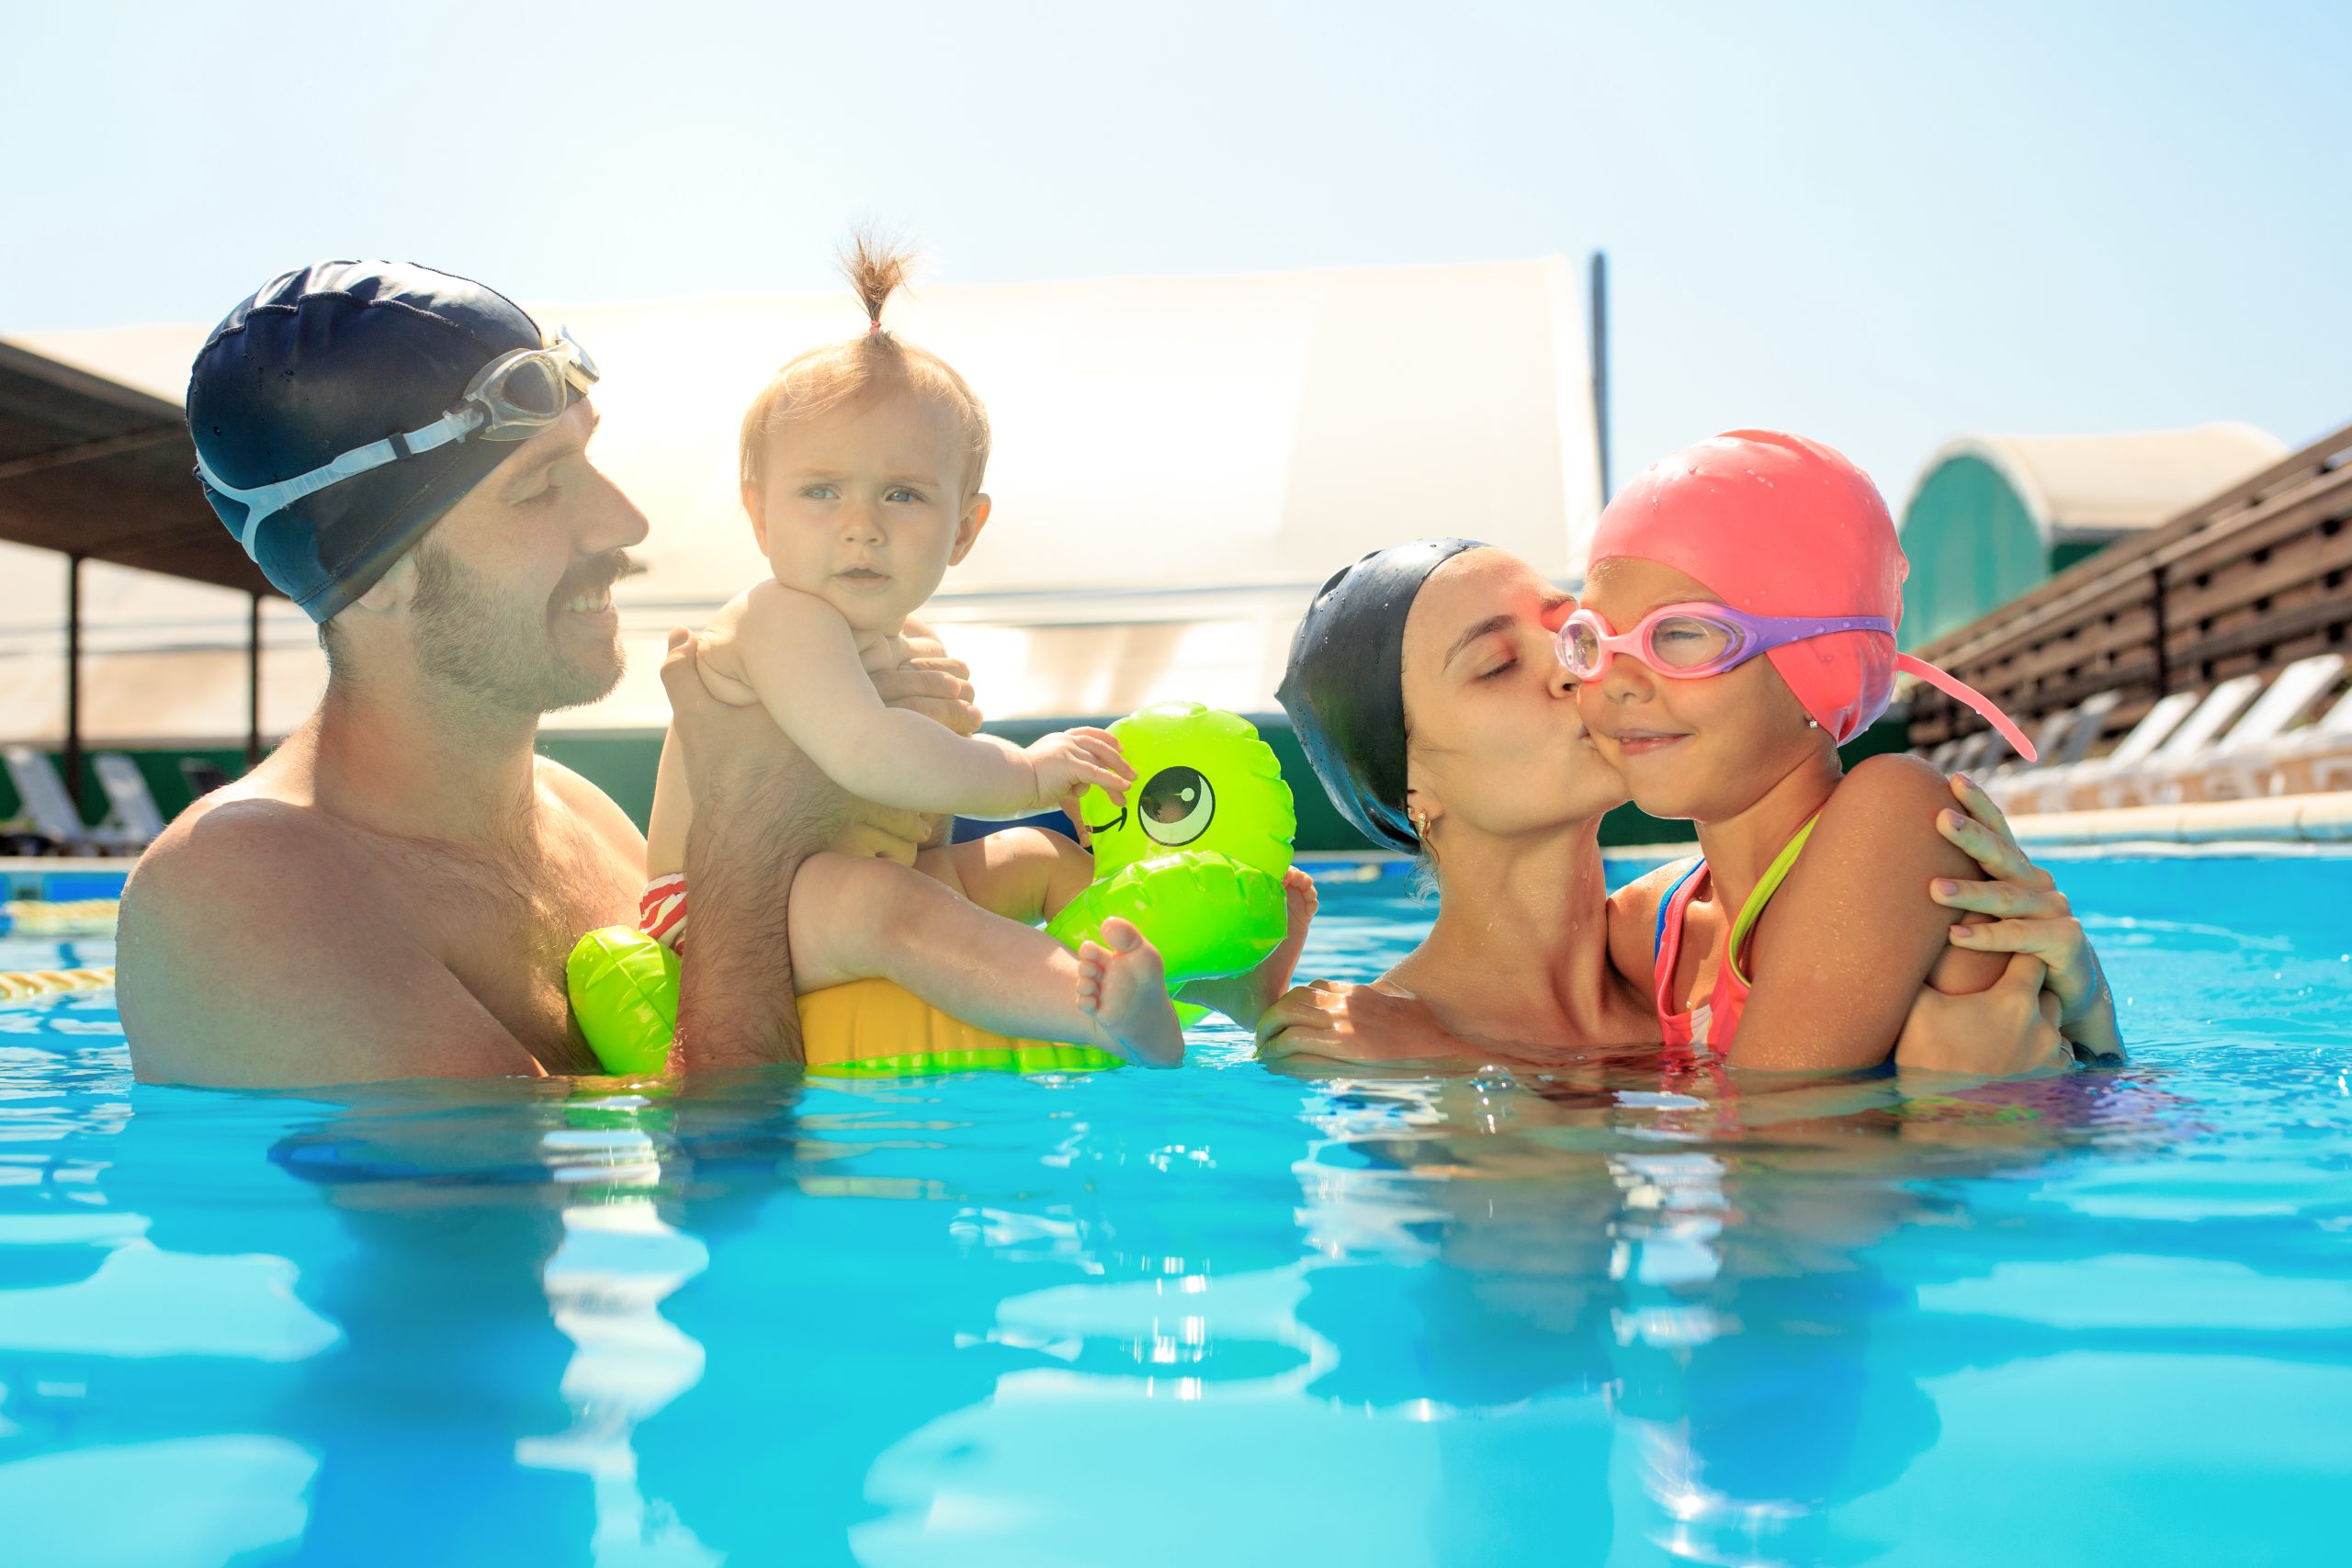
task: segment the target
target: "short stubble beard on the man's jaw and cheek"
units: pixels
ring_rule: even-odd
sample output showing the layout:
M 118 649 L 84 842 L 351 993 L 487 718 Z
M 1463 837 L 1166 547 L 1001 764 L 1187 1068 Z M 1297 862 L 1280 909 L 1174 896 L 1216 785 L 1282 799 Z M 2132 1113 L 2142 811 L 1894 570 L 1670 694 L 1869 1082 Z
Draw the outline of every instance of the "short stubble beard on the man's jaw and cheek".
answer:
M 614 550 L 574 567 L 548 602 L 517 604 L 496 595 L 449 550 L 423 543 L 409 599 L 416 665 L 428 679 L 508 712 L 595 703 L 621 684 L 621 642 L 616 637 L 593 663 L 567 658 L 550 607 L 626 571 L 628 557 Z

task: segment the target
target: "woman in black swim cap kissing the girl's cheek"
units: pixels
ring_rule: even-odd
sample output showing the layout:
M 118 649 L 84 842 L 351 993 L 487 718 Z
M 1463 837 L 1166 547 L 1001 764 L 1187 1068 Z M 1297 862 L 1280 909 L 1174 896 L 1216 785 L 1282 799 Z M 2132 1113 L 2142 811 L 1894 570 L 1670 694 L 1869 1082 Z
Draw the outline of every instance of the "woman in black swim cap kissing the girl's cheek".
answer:
M 1334 804 L 1428 856 L 1430 936 L 1374 985 L 1319 980 L 1258 1025 L 1261 1053 L 1550 1065 L 1658 1039 L 1651 957 L 1672 872 L 1606 893 L 1599 818 L 1625 788 L 1585 736 L 1552 651 L 1573 602 L 1515 555 L 1463 538 L 1367 555 L 1324 583 L 1291 644 L 1282 705 Z M 2065 896 L 1969 780 L 1938 827 L 1985 882 L 1931 896 L 1990 917 L 1952 943 L 2009 952 L 1971 997 L 1924 990 L 1903 1067 L 2030 1072 L 2110 1051 L 2114 1004 Z

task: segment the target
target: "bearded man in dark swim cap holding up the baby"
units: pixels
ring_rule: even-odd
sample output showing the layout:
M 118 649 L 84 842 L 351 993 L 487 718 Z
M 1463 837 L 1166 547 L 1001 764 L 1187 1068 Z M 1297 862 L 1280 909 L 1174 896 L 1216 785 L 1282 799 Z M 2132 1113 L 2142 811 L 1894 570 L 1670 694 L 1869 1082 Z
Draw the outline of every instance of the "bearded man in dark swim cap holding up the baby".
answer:
M 125 889 L 118 999 L 141 1079 L 597 1070 L 564 954 L 635 919 L 644 839 L 532 750 L 539 715 L 621 677 L 612 585 L 647 531 L 588 458 L 593 383 L 576 343 L 503 296 L 397 263 L 287 273 L 205 343 L 188 381 L 205 494 L 320 623 L 329 677 Z M 936 646 L 877 663 L 884 701 L 978 724 Z M 684 632 L 663 684 L 699 806 L 677 1060 L 795 1060 L 786 893 L 851 802 L 764 712 L 703 693 Z

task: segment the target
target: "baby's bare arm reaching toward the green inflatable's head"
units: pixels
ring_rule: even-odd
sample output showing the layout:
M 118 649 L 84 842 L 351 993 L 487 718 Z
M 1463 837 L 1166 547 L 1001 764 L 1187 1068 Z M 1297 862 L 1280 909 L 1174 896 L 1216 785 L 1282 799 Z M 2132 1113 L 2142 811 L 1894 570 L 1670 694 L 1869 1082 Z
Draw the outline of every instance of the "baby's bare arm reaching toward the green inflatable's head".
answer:
M 1047 736 L 1030 752 L 884 708 L 842 614 L 816 595 L 760 583 L 734 625 L 746 684 L 833 783 L 906 811 L 1023 816 L 1089 783 L 1124 792 L 1103 731 Z

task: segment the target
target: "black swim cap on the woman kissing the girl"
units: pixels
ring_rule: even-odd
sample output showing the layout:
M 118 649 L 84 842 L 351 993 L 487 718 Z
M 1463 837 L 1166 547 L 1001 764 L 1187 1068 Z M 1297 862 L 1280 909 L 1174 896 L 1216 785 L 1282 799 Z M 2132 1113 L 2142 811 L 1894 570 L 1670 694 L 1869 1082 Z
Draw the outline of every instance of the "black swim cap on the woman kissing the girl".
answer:
M 1374 844 L 1414 851 L 1404 813 L 1404 618 L 1475 538 L 1416 538 L 1331 574 L 1291 637 L 1275 701 L 1331 804 Z

